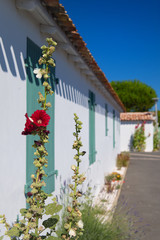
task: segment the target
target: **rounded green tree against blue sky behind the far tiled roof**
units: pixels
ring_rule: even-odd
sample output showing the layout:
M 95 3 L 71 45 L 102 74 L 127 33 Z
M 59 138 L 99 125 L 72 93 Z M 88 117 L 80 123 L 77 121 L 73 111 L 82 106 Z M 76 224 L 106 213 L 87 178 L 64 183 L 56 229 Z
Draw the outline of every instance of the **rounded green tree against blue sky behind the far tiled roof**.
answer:
M 153 88 L 139 80 L 112 81 L 111 85 L 126 107 L 127 112 L 145 112 L 153 107 L 157 97 Z

